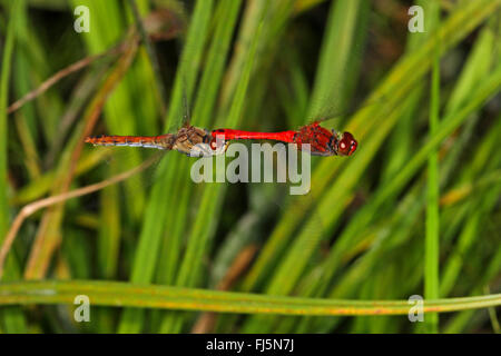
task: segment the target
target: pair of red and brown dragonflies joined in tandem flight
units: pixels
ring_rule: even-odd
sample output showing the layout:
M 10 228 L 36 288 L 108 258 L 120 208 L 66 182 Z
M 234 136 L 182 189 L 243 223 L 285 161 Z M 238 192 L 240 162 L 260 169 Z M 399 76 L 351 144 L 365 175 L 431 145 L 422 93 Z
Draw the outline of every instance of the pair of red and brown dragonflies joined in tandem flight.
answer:
M 232 140 L 274 140 L 294 144 L 302 150 L 310 145 L 310 154 L 315 156 L 351 156 L 357 142 L 350 132 L 337 134 L 320 126 L 318 121 L 297 130 L 281 132 L 256 132 L 235 129 L 208 131 L 185 125 L 176 134 L 160 136 L 100 136 L 87 137 L 86 142 L 97 146 L 146 147 L 161 150 L 177 150 L 191 157 L 222 155 Z

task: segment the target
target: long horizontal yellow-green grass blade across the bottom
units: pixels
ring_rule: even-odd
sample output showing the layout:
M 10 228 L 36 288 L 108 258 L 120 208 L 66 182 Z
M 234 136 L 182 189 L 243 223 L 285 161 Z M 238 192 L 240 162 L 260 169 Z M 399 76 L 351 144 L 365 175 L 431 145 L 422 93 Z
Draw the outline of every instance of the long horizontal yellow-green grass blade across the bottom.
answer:
M 69 304 L 77 295 L 92 305 L 219 313 L 284 315 L 407 315 L 407 300 L 343 300 L 263 296 L 207 289 L 145 286 L 119 281 L 33 280 L 0 287 L 0 305 Z M 424 313 L 446 313 L 501 305 L 501 295 L 425 300 Z

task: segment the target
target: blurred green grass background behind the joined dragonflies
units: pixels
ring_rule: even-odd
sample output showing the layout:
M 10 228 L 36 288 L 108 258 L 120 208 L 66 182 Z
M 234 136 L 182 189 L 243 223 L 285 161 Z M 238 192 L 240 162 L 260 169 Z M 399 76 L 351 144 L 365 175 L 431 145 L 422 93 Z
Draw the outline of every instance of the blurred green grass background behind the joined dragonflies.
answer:
M 325 126 L 360 145 L 313 158 L 306 196 L 196 185 L 191 159 L 171 152 L 153 185 L 148 171 L 40 209 L 8 255 L 1 332 L 500 332 L 501 1 L 416 1 L 423 33 L 394 0 L 0 3 L 0 241 L 27 204 L 147 157 L 111 159 L 86 135 L 158 135 L 179 123 L 184 96 L 209 129 L 350 112 Z M 73 31 L 79 4 L 89 33 Z M 99 305 L 90 323 L 73 322 L 80 294 Z M 411 295 L 456 312 L 412 324 Z

